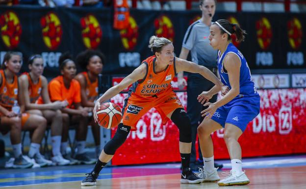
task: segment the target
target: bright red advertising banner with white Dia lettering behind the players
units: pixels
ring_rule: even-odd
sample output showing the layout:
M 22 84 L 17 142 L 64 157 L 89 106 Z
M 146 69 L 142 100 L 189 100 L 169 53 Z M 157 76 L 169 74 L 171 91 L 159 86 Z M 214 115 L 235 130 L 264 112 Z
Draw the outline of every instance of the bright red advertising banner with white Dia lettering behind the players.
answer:
M 249 123 L 239 138 L 243 157 L 306 153 L 306 89 L 265 89 L 261 97 L 260 114 Z M 186 92 L 178 92 L 186 108 Z M 123 106 L 127 94 L 119 94 L 112 102 Z M 116 132 L 112 129 L 111 135 Z M 223 130 L 212 133 L 214 157 L 228 159 Z M 178 129 L 161 118 L 152 108 L 130 132 L 127 141 L 116 152 L 112 164 L 179 162 Z

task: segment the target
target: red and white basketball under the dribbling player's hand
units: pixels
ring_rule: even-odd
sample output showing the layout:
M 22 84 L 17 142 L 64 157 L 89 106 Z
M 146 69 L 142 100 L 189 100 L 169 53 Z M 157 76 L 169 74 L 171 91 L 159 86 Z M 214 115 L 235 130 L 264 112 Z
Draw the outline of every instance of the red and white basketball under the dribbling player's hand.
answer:
M 97 110 L 98 124 L 106 129 L 116 127 L 121 119 L 121 108 L 115 103 L 103 103 Z

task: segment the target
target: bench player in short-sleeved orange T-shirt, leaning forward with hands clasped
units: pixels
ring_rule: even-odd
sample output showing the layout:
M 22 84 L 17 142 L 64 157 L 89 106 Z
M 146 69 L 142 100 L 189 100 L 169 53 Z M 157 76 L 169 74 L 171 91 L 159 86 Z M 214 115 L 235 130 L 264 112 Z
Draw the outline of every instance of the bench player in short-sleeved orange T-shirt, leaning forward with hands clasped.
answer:
M 63 135 L 61 144 L 61 153 L 65 159 L 71 161 L 71 164 L 77 162 L 92 164 L 94 160 L 90 159 L 85 153 L 87 120 L 90 108 L 81 106 L 80 85 L 75 76 L 77 68 L 75 62 L 69 54 L 62 54 L 59 58 L 61 76 L 58 76 L 48 84 L 48 91 L 51 102 L 67 101 L 68 106 L 61 109 L 63 112 Z M 75 159 L 66 154 L 68 146 L 68 132 L 70 124 L 76 123 L 77 154 Z

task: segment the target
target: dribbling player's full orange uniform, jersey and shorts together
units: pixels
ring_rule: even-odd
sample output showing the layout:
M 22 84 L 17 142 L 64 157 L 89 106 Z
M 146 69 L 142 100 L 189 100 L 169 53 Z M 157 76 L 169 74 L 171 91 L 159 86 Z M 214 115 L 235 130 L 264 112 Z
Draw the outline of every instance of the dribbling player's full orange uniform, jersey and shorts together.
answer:
M 161 116 L 162 124 L 169 120 L 167 115 L 177 108 L 183 108 L 173 91 L 171 81 L 176 74 L 175 59 L 162 72 L 154 70 L 156 57 L 150 56 L 142 63 L 147 65 L 147 74 L 143 80 L 136 81 L 129 88 L 128 98 L 123 107 L 122 122 L 136 129 L 138 120 L 151 108 L 155 108 Z

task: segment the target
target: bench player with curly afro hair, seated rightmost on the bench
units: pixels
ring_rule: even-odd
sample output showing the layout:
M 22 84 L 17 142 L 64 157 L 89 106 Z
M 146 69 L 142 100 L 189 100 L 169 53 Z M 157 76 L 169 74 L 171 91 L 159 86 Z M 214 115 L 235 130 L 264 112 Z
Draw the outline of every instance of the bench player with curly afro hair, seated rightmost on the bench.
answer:
M 77 65 L 83 72 L 77 74 L 76 80 L 81 87 L 81 105 L 89 107 L 91 110 L 95 107 L 95 101 L 98 96 L 98 75 L 101 74 L 104 65 L 104 54 L 99 51 L 86 50 L 77 55 Z M 100 155 L 100 126 L 95 123 L 93 116 L 90 117 L 89 123 L 96 144 L 96 156 Z M 87 131 L 87 130 L 86 130 Z

